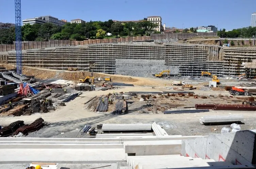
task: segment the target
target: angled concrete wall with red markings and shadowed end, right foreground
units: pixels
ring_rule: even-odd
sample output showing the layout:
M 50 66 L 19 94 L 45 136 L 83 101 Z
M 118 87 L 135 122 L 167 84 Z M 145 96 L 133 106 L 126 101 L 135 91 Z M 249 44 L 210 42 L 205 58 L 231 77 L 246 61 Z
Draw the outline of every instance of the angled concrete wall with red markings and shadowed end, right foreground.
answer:
M 234 165 L 256 164 L 255 137 L 255 131 L 243 130 L 182 140 L 181 154 L 215 161 L 228 161 Z

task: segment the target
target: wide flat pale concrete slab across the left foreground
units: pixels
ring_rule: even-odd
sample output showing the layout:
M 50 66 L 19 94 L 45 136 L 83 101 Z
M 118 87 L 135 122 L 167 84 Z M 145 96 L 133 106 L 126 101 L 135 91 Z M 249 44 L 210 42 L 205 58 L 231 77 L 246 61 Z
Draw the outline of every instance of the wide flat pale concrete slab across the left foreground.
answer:
M 117 163 L 125 162 L 124 149 L 1 149 L 0 164 Z M 37 153 L 35 153 L 37 152 Z

